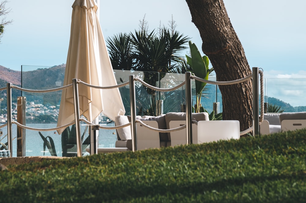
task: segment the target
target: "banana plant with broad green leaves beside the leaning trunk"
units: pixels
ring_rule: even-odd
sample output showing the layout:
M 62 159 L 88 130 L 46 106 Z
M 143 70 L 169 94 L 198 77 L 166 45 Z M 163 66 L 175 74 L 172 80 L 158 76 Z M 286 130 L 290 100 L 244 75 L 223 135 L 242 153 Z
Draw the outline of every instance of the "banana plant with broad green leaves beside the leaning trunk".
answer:
M 199 49 L 196 47 L 194 43 L 189 41 L 190 54 L 191 57 L 186 55 L 187 64 L 189 68 L 187 69 L 195 76 L 208 80 L 208 75 L 214 70 L 213 68 L 209 68 L 209 59 L 207 56 L 201 56 Z M 195 81 L 196 83 L 196 104 L 194 105 L 194 112 L 200 113 L 204 112 L 204 108 L 201 105 L 201 96 L 204 87 L 207 83 Z

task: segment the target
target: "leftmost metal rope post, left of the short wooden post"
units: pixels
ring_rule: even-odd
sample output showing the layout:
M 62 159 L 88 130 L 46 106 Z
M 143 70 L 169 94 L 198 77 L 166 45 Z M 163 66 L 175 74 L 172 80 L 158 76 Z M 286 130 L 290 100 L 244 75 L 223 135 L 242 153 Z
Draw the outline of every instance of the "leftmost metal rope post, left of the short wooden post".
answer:
M 7 97 L 7 149 L 10 152 L 10 157 L 13 157 L 12 144 L 12 83 L 6 83 Z

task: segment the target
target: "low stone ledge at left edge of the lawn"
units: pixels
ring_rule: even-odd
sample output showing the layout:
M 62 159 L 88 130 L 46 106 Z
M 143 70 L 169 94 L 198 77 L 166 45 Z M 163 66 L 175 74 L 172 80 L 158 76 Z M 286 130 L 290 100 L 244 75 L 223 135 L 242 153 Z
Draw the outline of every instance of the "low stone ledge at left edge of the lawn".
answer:
M 3 157 L 0 158 L 0 164 L 4 166 L 19 165 L 31 162 L 40 162 L 44 159 L 66 159 L 67 157 L 58 156 L 24 156 L 24 157 Z

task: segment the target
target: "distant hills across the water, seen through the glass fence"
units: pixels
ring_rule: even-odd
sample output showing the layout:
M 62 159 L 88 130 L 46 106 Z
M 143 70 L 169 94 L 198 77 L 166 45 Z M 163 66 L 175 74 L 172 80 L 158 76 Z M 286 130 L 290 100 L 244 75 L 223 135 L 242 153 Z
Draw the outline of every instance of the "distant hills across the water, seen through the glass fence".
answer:
M 52 89 L 62 86 L 58 84 L 64 81 L 66 64 L 50 67 L 40 68 L 35 71 L 24 71 L 22 73 L 22 87 L 26 89 L 43 90 Z M 0 66 L 0 88 L 6 87 L 6 83 L 11 82 L 13 85 L 21 86 L 21 71 L 10 70 L 9 68 Z M 207 87 L 210 85 L 207 85 Z M 201 99 L 202 106 L 211 112 L 213 109 L 213 102 L 216 101 L 216 88 L 211 85 L 211 88 L 204 89 L 203 91 L 206 98 Z M 28 93 L 23 92 L 23 96 L 27 97 L 27 101 L 34 101 L 36 104 L 44 105 L 59 105 L 62 91 L 56 91 L 52 93 Z M 17 101 L 17 96 L 21 96 L 21 91 L 12 90 L 12 100 Z M 0 97 L 5 100 L 1 103 L 6 104 L 6 90 L 0 91 Z M 218 102 L 222 102 L 222 96 L 220 91 L 217 92 Z M 285 112 L 297 112 L 306 111 L 305 106 L 293 107 L 284 101 L 277 98 L 268 97 L 267 101 L 271 104 L 282 106 Z M 220 110 L 222 111 L 222 103 L 220 104 Z M 2 106 L 2 105 L 1 105 Z

